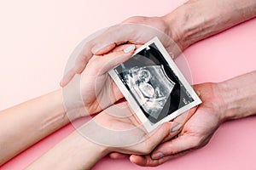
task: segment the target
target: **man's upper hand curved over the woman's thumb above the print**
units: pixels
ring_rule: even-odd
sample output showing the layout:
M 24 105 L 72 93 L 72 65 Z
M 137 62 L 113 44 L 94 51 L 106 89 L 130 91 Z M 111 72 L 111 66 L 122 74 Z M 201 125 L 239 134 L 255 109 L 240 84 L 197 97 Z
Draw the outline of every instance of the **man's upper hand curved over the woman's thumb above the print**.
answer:
M 168 26 L 164 17 L 131 17 L 118 25 L 111 26 L 84 45 L 74 67 L 67 71 L 67 74 L 61 80 L 61 86 L 66 86 L 75 74 L 84 71 L 93 54 L 108 54 L 121 43 L 143 44 L 157 36 L 167 51 L 172 52 L 174 57 L 180 53 L 181 44 L 174 43 L 178 42 L 177 38 L 180 36 L 177 36 L 173 30 L 170 30 L 170 26 Z

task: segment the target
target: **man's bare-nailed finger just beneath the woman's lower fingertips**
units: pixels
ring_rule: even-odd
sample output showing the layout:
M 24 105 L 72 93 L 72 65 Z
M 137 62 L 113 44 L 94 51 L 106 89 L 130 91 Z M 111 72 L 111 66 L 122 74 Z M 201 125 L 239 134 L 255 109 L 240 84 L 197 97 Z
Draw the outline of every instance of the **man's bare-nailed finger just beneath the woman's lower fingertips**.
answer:
M 152 153 L 152 159 L 160 159 L 164 156 L 172 156 L 180 152 L 194 149 L 200 144 L 198 139 L 190 136 L 189 134 L 183 134 L 176 139 L 172 139 L 169 142 L 160 144 Z

